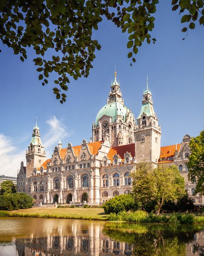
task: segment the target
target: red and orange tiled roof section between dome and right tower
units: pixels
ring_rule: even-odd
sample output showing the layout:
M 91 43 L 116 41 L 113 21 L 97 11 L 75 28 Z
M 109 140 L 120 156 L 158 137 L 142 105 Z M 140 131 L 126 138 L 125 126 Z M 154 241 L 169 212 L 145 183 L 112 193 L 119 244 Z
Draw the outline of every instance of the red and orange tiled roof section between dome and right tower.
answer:
M 124 154 L 128 152 L 131 154 L 132 157 L 135 156 L 135 144 L 127 144 L 123 146 L 117 146 L 117 147 L 111 147 L 109 152 L 108 152 L 108 159 L 113 160 L 113 156 L 115 154 L 119 155 L 122 160 L 124 159 Z

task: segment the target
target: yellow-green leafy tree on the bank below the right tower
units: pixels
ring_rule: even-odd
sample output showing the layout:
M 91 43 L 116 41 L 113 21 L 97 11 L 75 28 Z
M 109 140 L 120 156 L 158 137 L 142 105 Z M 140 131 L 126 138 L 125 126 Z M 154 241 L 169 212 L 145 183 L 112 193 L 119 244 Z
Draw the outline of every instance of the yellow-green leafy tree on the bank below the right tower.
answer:
M 165 202 L 175 201 L 185 193 L 184 178 L 175 165 L 153 168 L 150 163 L 138 163 L 132 176 L 135 201 L 144 209 L 154 201 L 157 214 Z

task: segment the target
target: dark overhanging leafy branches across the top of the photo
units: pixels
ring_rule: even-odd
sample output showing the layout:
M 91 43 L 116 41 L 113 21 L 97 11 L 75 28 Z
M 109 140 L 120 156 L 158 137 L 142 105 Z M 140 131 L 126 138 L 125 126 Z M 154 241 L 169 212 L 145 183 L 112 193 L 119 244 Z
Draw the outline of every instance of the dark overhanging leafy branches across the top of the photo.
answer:
M 51 72 L 56 72 L 53 88 L 56 98 L 66 101 L 68 76 L 77 80 L 87 77 L 92 68 L 95 51 L 101 45 L 93 38 L 103 18 L 127 32 L 127 57 L 135 62 L 134 54 L 143 42 L 155 43 L 150 32 L 154 29 L 158 0 L 1 0 L 0 39 L 11 47 L 14 54 L 20 54 L 21 61 L 27 58 L 26 48 L 32 47 L 38 55 L 34 58 L 39 80 L 48 83 Z M 203 0 L 172 0 L 172 10 L 182 13 L 181 22 L 186 22 L 182 32 L 195 28 L 199 20 L 204 25 Z M 183 38 L 185 39 L 185 38 Z M 46 52 L 54 49 L 51 60 Z M 63 93 L 62 93 L 63 92 Z

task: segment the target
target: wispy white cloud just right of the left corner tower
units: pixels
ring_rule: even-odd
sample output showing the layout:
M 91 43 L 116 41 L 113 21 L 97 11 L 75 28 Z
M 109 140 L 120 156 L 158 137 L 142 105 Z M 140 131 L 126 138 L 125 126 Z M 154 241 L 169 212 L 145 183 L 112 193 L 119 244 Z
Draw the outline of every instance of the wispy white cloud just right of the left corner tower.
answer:
M 65 125 L 63 125 L 63 119 L 58 119 L 54 115 L 52 118 L 46 121 L 49 125 L 49 130 L 43 137 L 44 147 L 47 152 L 52 152 L 54 147 L 58 144 L 59 138 L 68 138 L 73 132 L 68 132 Z M 49 155 L 47 155 L 49 157 Z

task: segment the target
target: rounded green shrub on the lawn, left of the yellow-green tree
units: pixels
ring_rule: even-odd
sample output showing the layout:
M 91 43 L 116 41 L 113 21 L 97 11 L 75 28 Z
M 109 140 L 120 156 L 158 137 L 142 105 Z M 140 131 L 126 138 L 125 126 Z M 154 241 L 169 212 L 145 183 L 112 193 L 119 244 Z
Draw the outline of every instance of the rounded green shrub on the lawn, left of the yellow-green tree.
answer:
M 105 214 L 119 213 L 120 211 L 136 210 L 137 204 L 133 198 L 133 195 L 117 195 L 109 199 L 102 206 Z

